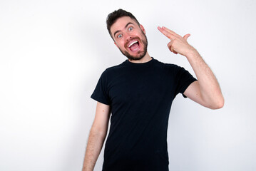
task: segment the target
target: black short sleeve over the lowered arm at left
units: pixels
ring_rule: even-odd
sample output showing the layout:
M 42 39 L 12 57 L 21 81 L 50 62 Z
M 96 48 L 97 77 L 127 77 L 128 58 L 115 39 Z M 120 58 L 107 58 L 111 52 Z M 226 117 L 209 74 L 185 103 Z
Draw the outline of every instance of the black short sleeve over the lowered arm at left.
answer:
M 91 98 L 100 103 L 111 105 L 111 101 L 108 95 L 108 78 L 106 71 L 101 74 L 101 77 L 98 80 L 97 86 L 93 91 Z

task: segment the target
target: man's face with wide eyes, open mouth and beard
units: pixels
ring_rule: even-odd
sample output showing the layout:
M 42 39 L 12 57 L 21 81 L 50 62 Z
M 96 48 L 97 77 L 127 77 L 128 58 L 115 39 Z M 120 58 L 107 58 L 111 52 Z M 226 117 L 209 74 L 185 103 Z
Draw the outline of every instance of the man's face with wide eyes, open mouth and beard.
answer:
M 140 60 L 147 53 L 148 41 L 145 29 L 129 16 L 123 16 L 111 26 L 116 46 L 130 60 Z

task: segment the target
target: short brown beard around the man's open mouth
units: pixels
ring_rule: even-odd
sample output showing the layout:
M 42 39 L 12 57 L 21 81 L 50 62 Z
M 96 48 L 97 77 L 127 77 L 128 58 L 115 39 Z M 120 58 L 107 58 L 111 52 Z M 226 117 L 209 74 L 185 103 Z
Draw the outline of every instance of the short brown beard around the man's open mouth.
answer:
M 143 33 L 143 31 L 141 31 L 141 32 Z M 130 55 L 130 53 L 128 53 L 128 51 L 122 51 L 119 48 L 121 53 L 123 53 L 123 55 L 126 56 L 131 61 L 138 61 L 138 60 L 142 59 L 145 56 L 145 53 L 147 53 L 147 51 L 148 51 L 148 39 L 147 39 L 147 36 L 145 36 L 145 33 L 143 33 L 143 36 L 144 37 L 141 39 L 141 43 L 142 43 L 142 45 L 144 45 L 144 47 L 143 47 L 142 51 L 138 51 L 137 56 L 132 56 L 132 55 Z M 140 46 L 142 46 L 142 45 L 140 45 Z

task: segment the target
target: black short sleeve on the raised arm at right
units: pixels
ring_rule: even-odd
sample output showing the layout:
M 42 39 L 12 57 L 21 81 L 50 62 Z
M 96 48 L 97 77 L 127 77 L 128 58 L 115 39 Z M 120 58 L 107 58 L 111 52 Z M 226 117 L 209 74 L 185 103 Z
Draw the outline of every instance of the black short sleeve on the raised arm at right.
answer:
M 176 75 L 176 80 L 177 80 L 177 87 L 175 90 L 175 93 L 184 93 L 185 90 L 190 86 L 191 83 L 194 81 L 197 81 L 188 71 L 185 70 L 185 68 L 179 67 L 178 66 L 178 73 Z M 187 98 L 183 94 L 184 98 Z

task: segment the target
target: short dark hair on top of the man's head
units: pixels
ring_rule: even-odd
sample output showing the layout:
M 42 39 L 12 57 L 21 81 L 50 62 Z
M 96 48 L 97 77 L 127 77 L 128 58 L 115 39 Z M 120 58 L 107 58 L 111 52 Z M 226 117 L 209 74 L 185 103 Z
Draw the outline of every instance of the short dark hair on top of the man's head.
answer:
M 113 11 L 111 14 L 108 14 L 107 17 L 107 28 L 108 28 L 108 33 L 111 35 L 111 26 L 116 22 L 117 19 L 121 18 L 122 16 L 129 16 L 131 19 L 134 19 L 136 21 L 136 23 L 140 26 L 140 23 L 138 22 L 138 20 L 135 18 L 135 16 L 133 16 L 133 14 L 131 14 L 128 11 L 125 11 L 123 9 L 118 9 L 116 11 Z M 111 36 L 112 38 L 112 36 Z

